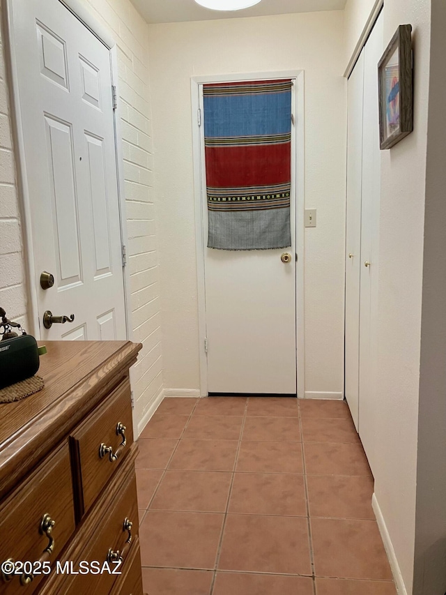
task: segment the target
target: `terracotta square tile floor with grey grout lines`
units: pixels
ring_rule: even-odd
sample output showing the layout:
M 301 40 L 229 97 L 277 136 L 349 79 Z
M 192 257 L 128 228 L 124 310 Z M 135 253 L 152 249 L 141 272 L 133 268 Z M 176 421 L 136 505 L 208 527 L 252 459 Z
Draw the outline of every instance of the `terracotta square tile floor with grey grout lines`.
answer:
M 167 398 L 139 439 L 148 595 L 395 595 L 344 402 Z

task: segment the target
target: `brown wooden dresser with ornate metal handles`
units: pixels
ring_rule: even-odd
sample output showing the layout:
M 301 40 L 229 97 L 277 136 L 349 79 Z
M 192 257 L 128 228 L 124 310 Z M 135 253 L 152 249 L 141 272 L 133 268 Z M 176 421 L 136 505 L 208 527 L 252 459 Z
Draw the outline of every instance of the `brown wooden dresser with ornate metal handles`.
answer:
M 0 594 L 142 595 L 129 383 L 141 345 L 45 345 L 43 391 L 0 405 L 0 564 L 26 562 L 0 572 Z

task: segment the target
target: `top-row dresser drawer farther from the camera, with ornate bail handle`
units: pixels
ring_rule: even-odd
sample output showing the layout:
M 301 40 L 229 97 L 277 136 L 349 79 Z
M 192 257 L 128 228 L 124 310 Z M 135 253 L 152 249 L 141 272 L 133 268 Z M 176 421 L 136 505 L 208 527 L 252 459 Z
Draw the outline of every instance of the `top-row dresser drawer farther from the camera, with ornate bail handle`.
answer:
M 127 377 L 70 435 L 77 521 L 121 465 L 132 443 L 132 405 Z

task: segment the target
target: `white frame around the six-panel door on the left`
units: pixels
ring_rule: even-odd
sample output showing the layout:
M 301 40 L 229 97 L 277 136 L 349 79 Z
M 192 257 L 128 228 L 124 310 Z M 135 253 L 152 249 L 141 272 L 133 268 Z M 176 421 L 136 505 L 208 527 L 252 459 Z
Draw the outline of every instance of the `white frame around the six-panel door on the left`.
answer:
M 58 0 L 63 6 L 66 6 L 70 13 L 79 20 L 86 29 L 89 29 L 100 42 L 109 50 L 110 74 L 112 84 L 116 87 L 118 93 L 118 53 L 117 45 L 113 36 L 105 27 L 95 19 L 91 12 L 79 0 Z M 22 239 L 24 243 L 24 259 L 26 267 L 26 295 L 28 303 L 26 304 L 26 314 L 30 325 L 30 333 L 36 339 L 40 339 L 40 317 L 38 311 L 38 293 L 35 285 L 36 269 L 33 250 L 33 232 L 31 225 L 31 202 L 29 196 L 28 180 L 26 178 L 26 159 L 24 151 L 24 133 L 22 128 L 19 79 L 17 73 L 17 60 L 15 56 L 15 30 L 13 22 L 14 0 L 6 0 L 5 20 L 1 24 L 5 36 L 6 66 L 8 68 L 8 89 L 10 99 L 10 118 L 11 130 L 13 133 L 13 154 L 15 157 L 15 167 L 17 174 L 17 197 L 20 206 L 20 223 L 22 227 Z M 121 118 L 118 116 L 119 103 L 116 110 L 113 110 L 114 120 L 114 146 L 116 156 L 116 182 L 118 190 L 118 209 L 119 209 L 119 227 L 121 237 L 119 241 L 121 246 L 128 246 L 128 233 L 125 220 L 125 193 L 123 176 L 123 152 L 120 142 L 121 136 Z M 125 329 L 126 338 L 132 339 L 132 325 L 130 321 L 130 272 L 128 266 L 123 266 L 123 286 L 124 286 L 124 310 L 125 310 Z

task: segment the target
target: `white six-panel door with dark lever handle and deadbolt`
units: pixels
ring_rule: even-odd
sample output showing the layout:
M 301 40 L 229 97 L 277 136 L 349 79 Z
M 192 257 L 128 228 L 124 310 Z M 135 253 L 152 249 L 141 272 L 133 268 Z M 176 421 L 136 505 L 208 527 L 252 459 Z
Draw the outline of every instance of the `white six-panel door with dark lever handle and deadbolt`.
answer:
M 109 50 L 59 0 L 14 0 L 42 338 L 125 338 Z M 40 287 L 40 274 L 54 286 Z M 75 315 L 43 326 L 43 314 Z

